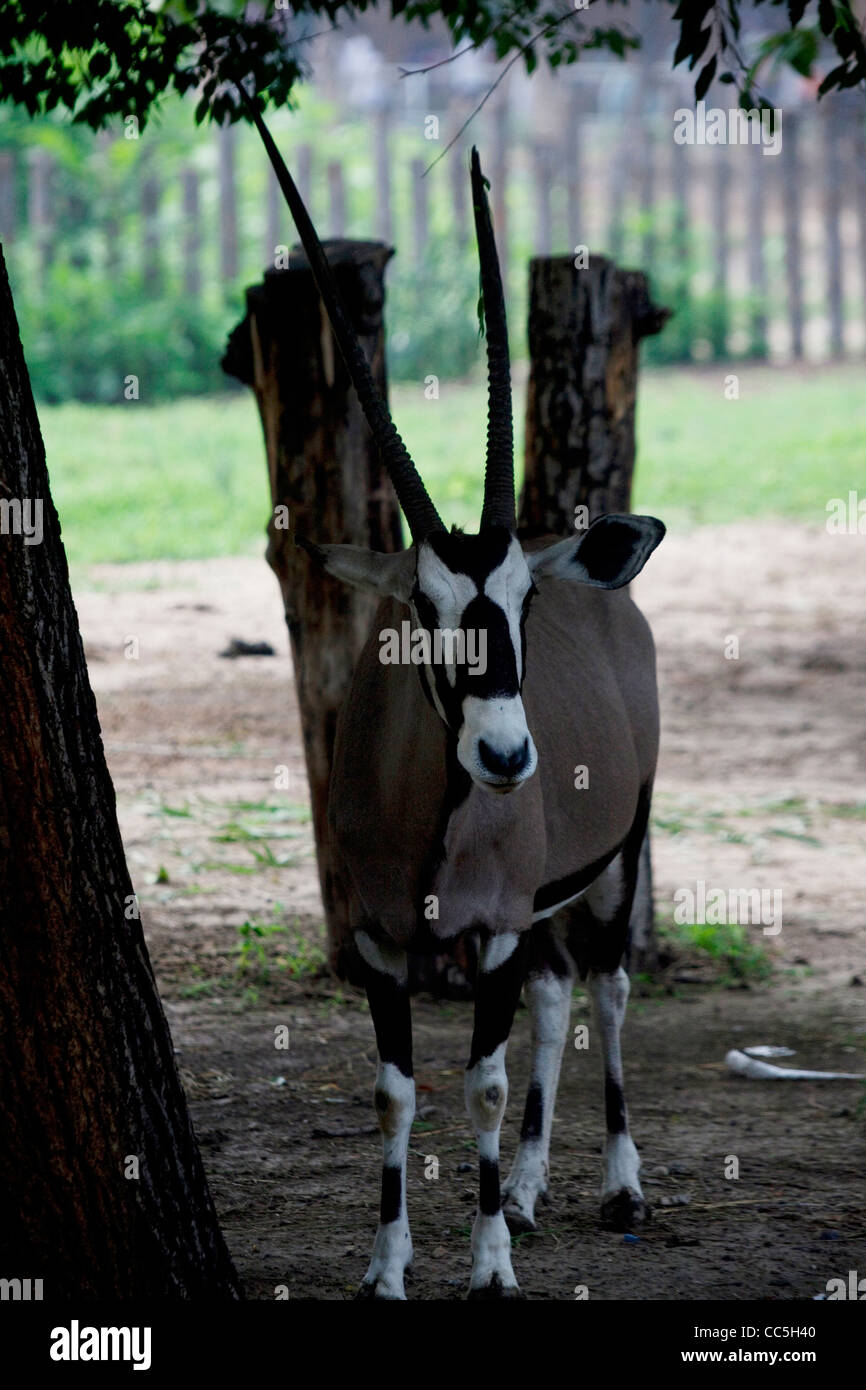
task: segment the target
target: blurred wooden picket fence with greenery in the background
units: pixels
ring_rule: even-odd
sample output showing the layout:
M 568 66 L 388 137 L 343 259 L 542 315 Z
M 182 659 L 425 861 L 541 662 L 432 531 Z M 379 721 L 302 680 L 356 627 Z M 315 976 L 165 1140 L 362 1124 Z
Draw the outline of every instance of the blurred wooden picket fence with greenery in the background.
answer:
M 411 106 L 316 100 L 275 118 L 320 234 L 398 247 L 388 272 L 392 375 L 460 375 L 477 357 L 471 142 L 492 183 L 517 356 L 527 259 L 581 245 L 646 270 L 656 300 L 673 307 L 648 345 L 651 359 L 820 360 L 863 350 L 866 124 L 856 101 L 784 108 L 781 149 L 770 154 L 762 145 L 676 143 L 676 99 L 656 93 L 646 103 L 648 81 L 644 70 L 637 95 L 612 113 L 587 110 L 585 89 L 563 82 L 542 131 L 496 93 L 427 175 L 473 104 L 446 86 L 427 88 Z M 730 104 L 730 89 L 720 92 L 708 106 Z M 36 277 L 31 309 L 47 325 L 46 352 L 53 296 L 81 304 L 75 332 L 85 338 L 88 306 L 101 299 L 121 343 L 138 296 L 152 322 L 164 306 L 163 335 L 183 338 L 192 325 L 193 346 L 213 359 L 240 288 L 295 240 L 254 132 L 193 135 L 185 108 L 171 129 L 154 126 L 140 140 L 82 132 L 90 143 L 76 146 L 76 160 L 63 142 L 57 149 L 36 129 L 15 131 L 10 139 L 0 125 L 0 238 L 14 278 L 18 271 L 17 296 Z M 218 384 L 206 375 L 206 386 Z M 92 388 L 83 395 L 107 389 L 96 378 Z M 82 386 L 60 384 L 54 393 Z

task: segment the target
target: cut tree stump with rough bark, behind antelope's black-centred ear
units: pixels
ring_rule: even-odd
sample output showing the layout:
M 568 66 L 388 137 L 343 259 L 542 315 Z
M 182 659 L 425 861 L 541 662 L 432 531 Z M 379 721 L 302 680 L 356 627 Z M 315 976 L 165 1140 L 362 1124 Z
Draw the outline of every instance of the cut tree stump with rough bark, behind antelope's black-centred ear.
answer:
M 530 263 L 527 535 L 571 534 L 577 506 L 591 521 L 630 510 L 638 345 L 667 317 L 644 274 L 603 256 L 581 270 L 570 256 Z

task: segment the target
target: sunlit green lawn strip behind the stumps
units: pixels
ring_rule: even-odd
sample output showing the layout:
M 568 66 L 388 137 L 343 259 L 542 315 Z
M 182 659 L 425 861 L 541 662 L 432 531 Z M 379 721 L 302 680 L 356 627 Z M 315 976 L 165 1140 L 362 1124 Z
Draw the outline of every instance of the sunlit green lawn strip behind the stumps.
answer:
M 863 368 L 657 368 L 641 378 L 635 510 L 677 525 L 737 517 L 823 524 L 866 484 Z M 484 386 L 438 400 L 396 386 L 395 420 L 446 521 L 475 527 Z M 523 418 L 523 392 L 516 393 Z M 170 406 L 43 406 L 51 489 L 72 566 L 261 552 L 268 493 L 252 395 Z M 516 431 L 521 441 L 521 428 Z

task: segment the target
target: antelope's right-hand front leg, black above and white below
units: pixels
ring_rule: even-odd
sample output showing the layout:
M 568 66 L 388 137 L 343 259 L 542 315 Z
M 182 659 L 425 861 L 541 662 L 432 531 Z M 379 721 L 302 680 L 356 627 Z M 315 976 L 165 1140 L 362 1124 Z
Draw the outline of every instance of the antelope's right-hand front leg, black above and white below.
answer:
M 525 972 L 527 937 L 488 937 L 475 987 L 475 1024 L 466 1069 L 466 1108 L 478 1141 L 478 1211 L 473 1225 L 470 1298 L 521 1298 L 512 1269 L 512 1237 L 499 1194 L 499 1130 L 509 1083 L 505 1049 Z

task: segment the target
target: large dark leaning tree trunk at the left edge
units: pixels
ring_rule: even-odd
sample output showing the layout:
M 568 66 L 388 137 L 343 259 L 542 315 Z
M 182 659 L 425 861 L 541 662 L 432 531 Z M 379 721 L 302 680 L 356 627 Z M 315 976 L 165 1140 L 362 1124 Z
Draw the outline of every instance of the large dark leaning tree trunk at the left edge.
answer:
M 1 252 L 0 439 L 0 1268 L 42 1277 L 46 1298 L 235 1298 L 124 859 Z

